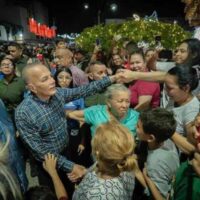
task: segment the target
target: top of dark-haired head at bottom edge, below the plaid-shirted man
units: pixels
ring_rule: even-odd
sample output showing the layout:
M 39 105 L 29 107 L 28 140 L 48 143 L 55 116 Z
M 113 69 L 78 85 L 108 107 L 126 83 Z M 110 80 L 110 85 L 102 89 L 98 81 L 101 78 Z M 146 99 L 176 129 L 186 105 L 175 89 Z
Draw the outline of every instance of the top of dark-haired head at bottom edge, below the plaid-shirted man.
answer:
M 57 198 L 49 187 L 35 186 L 25 193 L 24 200 L 57 200 Z

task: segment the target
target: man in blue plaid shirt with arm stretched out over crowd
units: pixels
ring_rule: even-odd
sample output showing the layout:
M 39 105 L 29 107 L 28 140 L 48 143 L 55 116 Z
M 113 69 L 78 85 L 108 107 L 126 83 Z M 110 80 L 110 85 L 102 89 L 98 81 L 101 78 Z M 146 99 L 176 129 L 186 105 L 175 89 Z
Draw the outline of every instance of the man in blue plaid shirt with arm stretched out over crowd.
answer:
M 66 172 L 70 173 L 68 177 L 71 181 L 76 181 L 85 174 L 83 166 L 66 158 L 69 137 L 64 104 L 103 90 L 121 75 L 105 77 L 78 88 L 63 89 L 55 87 L 55 81 L 46 66 L 36 63 L 24 68 L 23 78 L 31 94 L 17 107 L 15 119 L 20 138 L 37 160 L 40 184 L 49 186 L 51 183 L 41 164 L 47 153 L 57 157 L 57 168 L 67 188 L 69 183 L 66 183 Z

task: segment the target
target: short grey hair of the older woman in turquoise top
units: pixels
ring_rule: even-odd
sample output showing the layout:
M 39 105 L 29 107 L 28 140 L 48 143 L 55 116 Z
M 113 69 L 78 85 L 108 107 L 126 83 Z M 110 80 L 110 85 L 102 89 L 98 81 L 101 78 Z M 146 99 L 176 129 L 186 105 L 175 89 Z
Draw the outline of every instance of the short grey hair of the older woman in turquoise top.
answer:
M 113 94 L 119 91 L 128 92 L 130 94 L 130 90 L 125 85 L 117 83 L 107 87 L 104 96 L 106 100 L 112 99 Z

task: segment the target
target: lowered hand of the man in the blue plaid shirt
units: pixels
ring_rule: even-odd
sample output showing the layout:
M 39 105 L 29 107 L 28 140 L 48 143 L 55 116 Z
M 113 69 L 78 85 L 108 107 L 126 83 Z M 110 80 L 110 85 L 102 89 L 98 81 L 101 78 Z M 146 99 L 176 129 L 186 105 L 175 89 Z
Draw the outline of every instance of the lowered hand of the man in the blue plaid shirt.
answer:
M 87 170 L 85 167 L 75 164 L 72 169 L 72 172 L 68 173 L 67 176 L 70 181 L 77 182 L 79 179 L 81 179 L 86 174 L 86 172 L 87 172 Z

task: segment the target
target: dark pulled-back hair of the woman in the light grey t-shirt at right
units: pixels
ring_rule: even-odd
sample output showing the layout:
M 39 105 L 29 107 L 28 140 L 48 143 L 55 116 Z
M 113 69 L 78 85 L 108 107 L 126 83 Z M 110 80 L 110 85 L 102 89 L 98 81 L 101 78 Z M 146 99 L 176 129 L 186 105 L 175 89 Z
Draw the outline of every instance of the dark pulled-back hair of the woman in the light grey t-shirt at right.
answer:
M 176 76 L 181 89 L 189 85 L 190 91 L 196 89 L 199 84 L 197 70 L 189 65 L 179 64 L 168 71 L 168 74 Z

